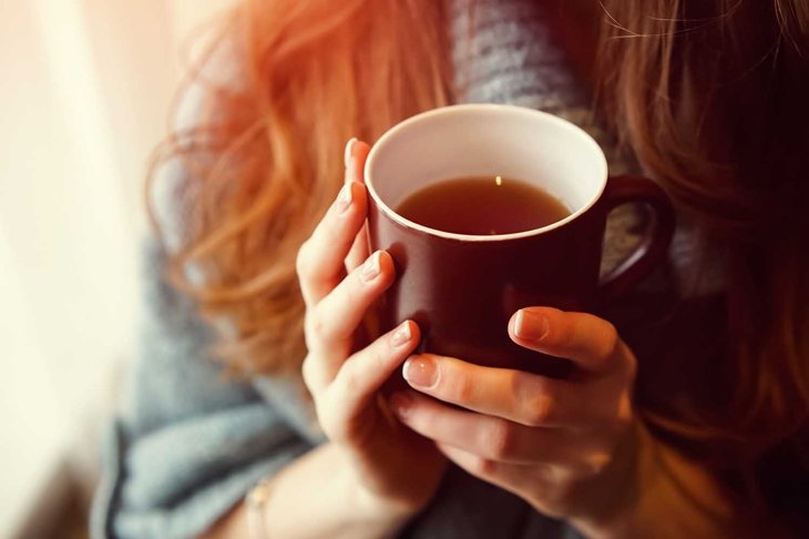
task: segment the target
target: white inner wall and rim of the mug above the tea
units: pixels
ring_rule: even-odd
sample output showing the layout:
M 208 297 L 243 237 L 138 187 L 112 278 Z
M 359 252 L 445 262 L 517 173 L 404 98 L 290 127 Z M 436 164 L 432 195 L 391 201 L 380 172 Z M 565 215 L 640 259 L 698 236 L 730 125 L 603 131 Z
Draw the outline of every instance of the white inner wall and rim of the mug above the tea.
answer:
M 432 183 L 485 175 L 531 183 L 561 201 L 571 215 L 532 231 L 471 236 L 422 226 L 393 210 Z M 559 116 L 521 106 L 462 104 L 414 115 L 387 131 L 368 155 L 365 180 L 380 209 L 404 226 L 491 241 L 542 233 L 576 218 L 604 191 L 607 163 L 592 136 Z

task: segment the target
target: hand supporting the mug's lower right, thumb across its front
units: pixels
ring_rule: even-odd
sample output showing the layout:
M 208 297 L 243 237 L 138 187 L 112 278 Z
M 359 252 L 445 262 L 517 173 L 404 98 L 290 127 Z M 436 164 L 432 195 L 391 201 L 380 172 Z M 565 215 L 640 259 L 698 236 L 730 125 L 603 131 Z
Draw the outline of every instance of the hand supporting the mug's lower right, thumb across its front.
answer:
M 521 346 L 571 359 L 576 374 L 552 379 L 423 354 L 403 367 L 417 391 L 395 394 L 392 410 L 458 466 L 545 515 L 608 518 L 628 496 L 641 439 L 632 407 L 635 356 L 612 324 L 583 313 L 524 308 L 509 334 Z

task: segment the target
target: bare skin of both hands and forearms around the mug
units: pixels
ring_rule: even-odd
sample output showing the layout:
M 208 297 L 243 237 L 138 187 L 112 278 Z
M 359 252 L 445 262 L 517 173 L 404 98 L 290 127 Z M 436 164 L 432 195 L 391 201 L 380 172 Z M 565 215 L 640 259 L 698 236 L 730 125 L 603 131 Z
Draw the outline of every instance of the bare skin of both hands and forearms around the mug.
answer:
M 769 522 L 762 536 L 707 470 L 649 435 L 632 406 L 635 356 L 607 321 L 514 313 L 516 344 L 575 363 L 565 380 L 413 355 L 412 321 L 357 346 L 366 312 L 396 278 L 390 255 L 366 247 L 368 150 L 349 141 L 346 185 L 298 256 L 303 374 L 328 441 L 274 477 L 272 536 L 393 537 L 433 498 L 448 461 L 592 538 L 782 536 Z M 410 389 L 386 398 L 399 368 Z M 246 532 L 239 505 L 204 537 Z

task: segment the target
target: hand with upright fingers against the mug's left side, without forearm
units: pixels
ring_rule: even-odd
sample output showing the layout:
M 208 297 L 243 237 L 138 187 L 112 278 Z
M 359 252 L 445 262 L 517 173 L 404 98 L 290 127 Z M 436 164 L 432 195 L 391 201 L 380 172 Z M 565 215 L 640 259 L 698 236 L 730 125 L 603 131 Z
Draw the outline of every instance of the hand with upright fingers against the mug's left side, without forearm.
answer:
M 433 443 L 396 421 L 379 393 L 418 345 L 416 323 L 407 321 L 355 349 L 366 311 L 395 278 L 388 253 L 366 256 L 361 171 L 368 151 L 362 142 L 349 142 L 346 184 L 298 253 L 308 348 L 303 374 L 320 426 L 345 455 L 359 494 L 381 510 L 409 516 L 430 501 L 447 459 Z

